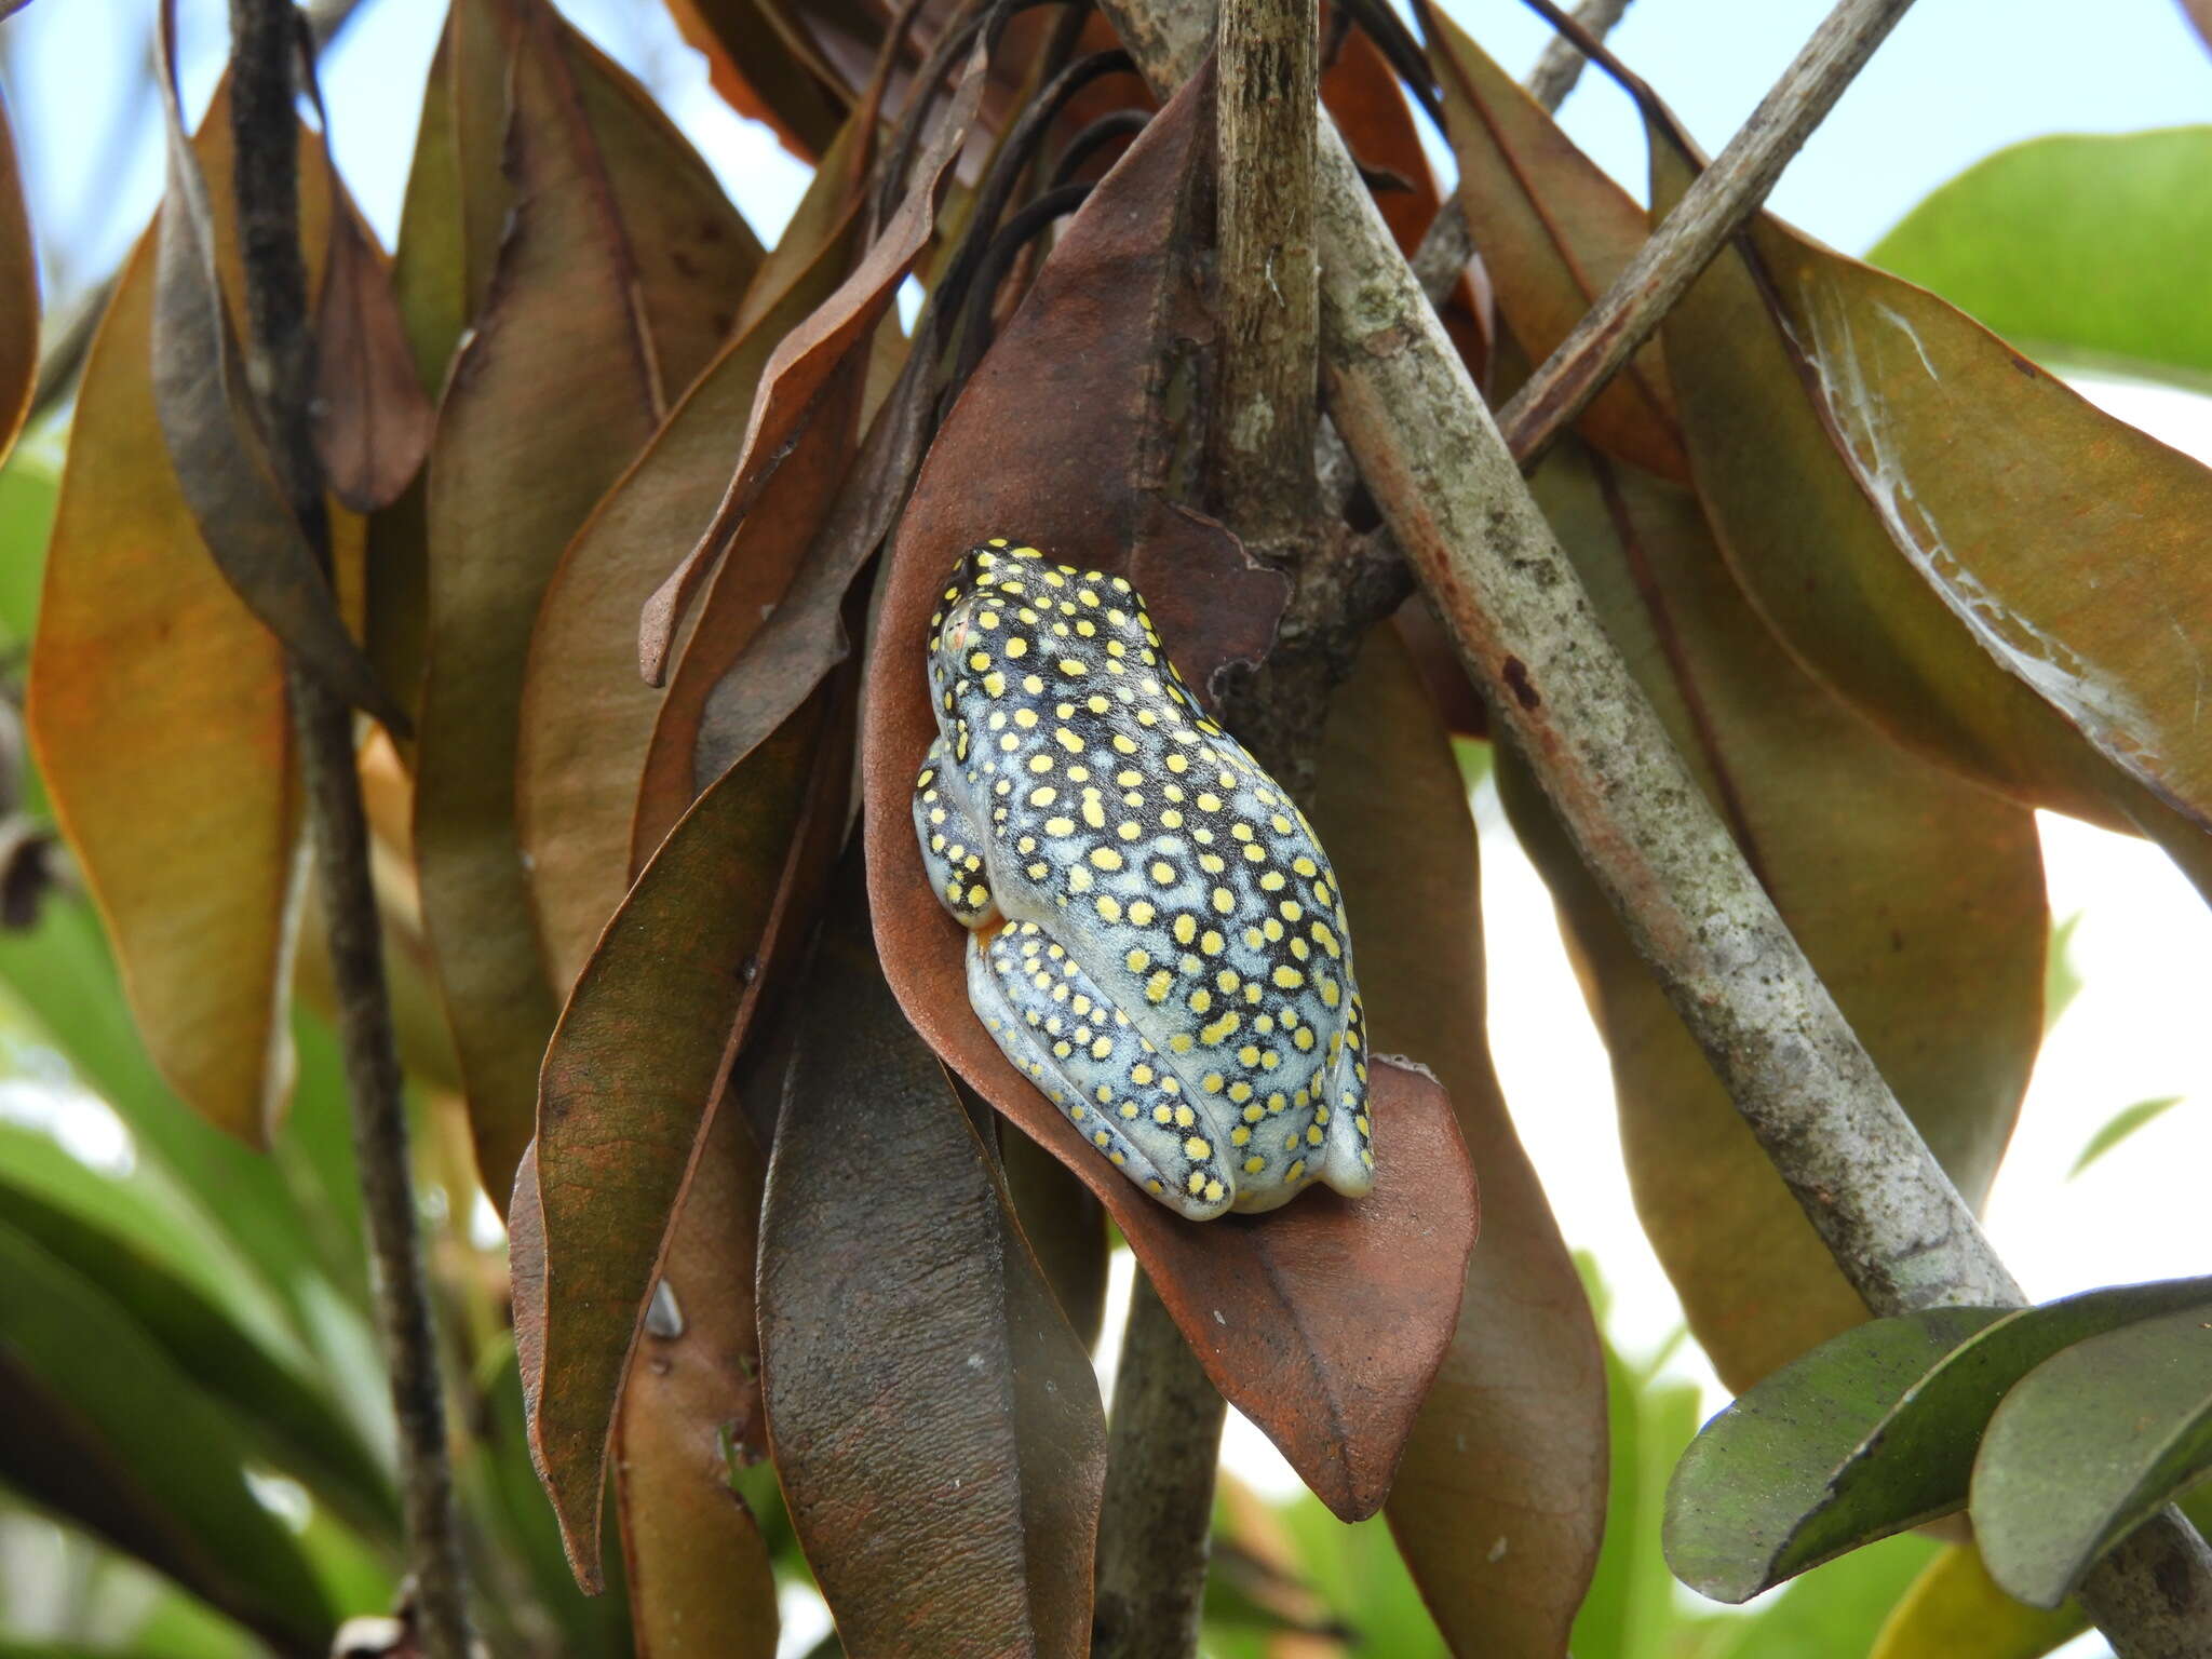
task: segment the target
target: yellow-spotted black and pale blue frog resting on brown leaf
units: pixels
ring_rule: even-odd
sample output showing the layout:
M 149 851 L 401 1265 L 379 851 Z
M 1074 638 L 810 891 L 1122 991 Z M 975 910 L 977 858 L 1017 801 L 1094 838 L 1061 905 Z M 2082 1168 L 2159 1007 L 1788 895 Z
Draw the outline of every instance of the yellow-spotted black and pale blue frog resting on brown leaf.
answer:
M 929 617 L 914 830 L 969 1006 L 1190 1221 L 1374 1188 L 1367 1024 L 1314 825 L 1177 672 L 1124 575 L 1013 538 Z

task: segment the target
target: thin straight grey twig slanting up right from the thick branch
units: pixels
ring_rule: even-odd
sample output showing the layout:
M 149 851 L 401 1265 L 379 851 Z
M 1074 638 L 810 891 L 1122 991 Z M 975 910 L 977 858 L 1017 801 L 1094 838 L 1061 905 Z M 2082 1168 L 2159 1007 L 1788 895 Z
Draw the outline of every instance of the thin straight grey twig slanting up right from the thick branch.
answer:
M 1498 414 L 1533 467 L 1743 228 L 1911 0 L 1840 0 L 1597 305 Z

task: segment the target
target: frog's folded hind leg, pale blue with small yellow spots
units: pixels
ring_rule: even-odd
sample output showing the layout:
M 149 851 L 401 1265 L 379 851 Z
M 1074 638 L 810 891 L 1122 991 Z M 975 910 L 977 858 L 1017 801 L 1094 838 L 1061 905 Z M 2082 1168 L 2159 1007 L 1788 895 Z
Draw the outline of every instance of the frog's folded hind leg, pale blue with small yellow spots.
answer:
M 1228 1148 L 1159 1053 L 1035 922 L 969 933 L 969 1006 L 1024 1077 L 1128 1179 L 1188 1217 L 1237 1201 Z

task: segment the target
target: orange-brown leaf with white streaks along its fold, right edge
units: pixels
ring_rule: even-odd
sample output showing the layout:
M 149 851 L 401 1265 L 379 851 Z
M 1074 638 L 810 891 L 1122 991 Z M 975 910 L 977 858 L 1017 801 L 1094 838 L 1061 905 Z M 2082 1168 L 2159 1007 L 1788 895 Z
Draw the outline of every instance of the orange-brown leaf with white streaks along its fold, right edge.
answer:
M 1655 111 L 1652 197 L 1697 157 Z M 2212 889 L 2212 471 L 1933 294 L 1756 219 L 1666 323 L 1752 604 L 1898 741 Z

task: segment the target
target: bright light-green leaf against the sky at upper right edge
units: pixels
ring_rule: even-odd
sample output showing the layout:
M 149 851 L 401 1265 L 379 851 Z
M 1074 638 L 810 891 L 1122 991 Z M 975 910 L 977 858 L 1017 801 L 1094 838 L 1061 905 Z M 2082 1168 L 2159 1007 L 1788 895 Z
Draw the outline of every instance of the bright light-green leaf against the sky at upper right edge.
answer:
M 1975 161 L 1867 254 L 2022 352 L 2212 387 L 2212 126 L 2055 133 Z

